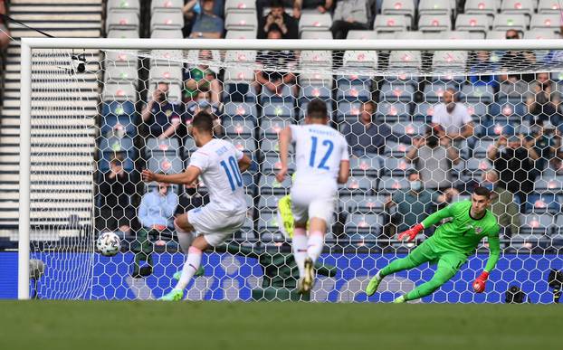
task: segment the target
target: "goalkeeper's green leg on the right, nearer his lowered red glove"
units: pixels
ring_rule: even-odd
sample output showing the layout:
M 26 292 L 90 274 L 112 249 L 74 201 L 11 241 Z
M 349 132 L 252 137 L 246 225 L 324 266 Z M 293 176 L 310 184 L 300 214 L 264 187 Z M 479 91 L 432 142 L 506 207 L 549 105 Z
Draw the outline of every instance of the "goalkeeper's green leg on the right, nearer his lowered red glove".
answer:
M 430 279 L 428 282 L 421 284 L 420 286 L 416 287 L 415 289 L 411 290 L 410 292 L 406 293 L 406 295 L 396 298 L 394 303 L 396 302 L 406 302 L 409 300 L 415 300 L 418 298 L 424 298 L 429 296 L 430 294 L 434 293 L 436 289 L 439 289 L 444 285 L 445 282 L 452 279 L 453 276 L 459 270 L 459 267 L 462 266 L 463 262 L 465 261 L 465 257 L 457 254 L 447 254 L 443 258 L 438 261 L 438 269 L 434 273 L 434 277 Z M 401 299 L 401 300 L 399 300 Z

